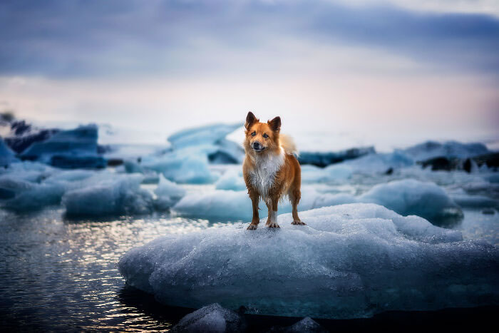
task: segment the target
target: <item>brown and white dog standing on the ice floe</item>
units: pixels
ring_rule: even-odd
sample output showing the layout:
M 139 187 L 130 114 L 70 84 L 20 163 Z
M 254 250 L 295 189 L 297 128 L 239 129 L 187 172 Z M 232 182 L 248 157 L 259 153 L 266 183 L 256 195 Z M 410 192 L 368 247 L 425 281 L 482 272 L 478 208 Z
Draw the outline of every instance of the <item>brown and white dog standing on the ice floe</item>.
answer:
M 246 117 L 245 163 L 242 173 L 245 176 L 249 198 L 253 204 L 253 218 L 248 230 L 258 227 L 258 203 L 260 198 L 267 204 L 269 227 L 277 224 L 277 204 L 285 195 L 293 207 L 292 225 L 304 225 L 298 217 L 297 206 L 301 197 L 302 173 L 294 153 L 294 143 L 285 135 L 279 135 L 281 118 L 276 117 L 267 123 L 260 123 L 253 113 Z

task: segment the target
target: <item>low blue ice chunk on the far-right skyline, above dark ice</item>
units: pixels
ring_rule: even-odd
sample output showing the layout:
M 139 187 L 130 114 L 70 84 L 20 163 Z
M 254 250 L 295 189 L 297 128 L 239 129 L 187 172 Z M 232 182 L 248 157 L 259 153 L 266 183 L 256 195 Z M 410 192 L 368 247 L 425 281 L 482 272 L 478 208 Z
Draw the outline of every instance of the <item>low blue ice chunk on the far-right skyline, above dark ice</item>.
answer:
M 470 158 L 473 156 L 489 153 L 483 143 L 460 143 L 457 141 L 447 141 L 438 143 L 436 141 L 426 141 L 403 150 L 414 160 L 422 161 L 436 157 L 446 158 Z

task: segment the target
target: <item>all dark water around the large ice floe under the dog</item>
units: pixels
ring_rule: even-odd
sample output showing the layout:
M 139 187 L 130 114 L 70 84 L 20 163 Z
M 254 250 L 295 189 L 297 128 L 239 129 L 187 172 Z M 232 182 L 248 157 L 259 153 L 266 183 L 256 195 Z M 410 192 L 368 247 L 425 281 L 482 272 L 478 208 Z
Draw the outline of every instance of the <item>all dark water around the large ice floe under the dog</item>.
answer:
M 467 218 L 468 217 L 468 218 Z M 456 229 L 465 237 L 495 243 L 497 214 L 465 212 Z M 481 220 L 480 220 L 481 219 Z M 472 222 L 478 221 L 478 222 Z M 217 223 L 170 215 L 68 220 L 59 208 L 17 215 L 0 211 L 0 328 L 42 331 L 165 331 L 191 309 L 165 307 L 152 296 L 126 287 L 116 263 L 130 248 L 173 232 L 192 232 Z M 363 329 L 398 323 L 426 325 L 435 319 L 463 324 L 488 321 L 497 307 L 402 312 L 372 319 L 319 320 L 331 329 Z M 457 311 L 457 312 L 456 312 Z M 260 330 L 298 319 L 247 316 Z M 452 320 L 451 320 L 452 319 Z M 461 320 L 461 324 L 460 323 Z M 253 326 L 251 326 L 253 325 Z

